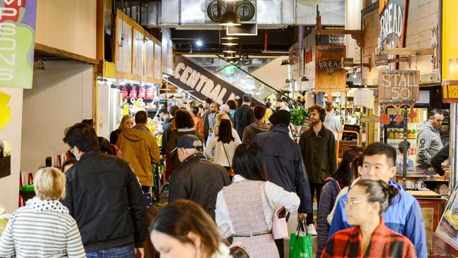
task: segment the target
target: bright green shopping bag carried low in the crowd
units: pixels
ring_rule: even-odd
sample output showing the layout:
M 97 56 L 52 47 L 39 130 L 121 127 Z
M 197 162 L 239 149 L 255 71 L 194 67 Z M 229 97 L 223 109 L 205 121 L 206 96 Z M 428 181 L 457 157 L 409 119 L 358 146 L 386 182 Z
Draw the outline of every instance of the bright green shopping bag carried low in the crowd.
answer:
M 295 233 L 290 238 L 290 258 L 311 258 L 311 235 L 304 222 L 297 223 Z

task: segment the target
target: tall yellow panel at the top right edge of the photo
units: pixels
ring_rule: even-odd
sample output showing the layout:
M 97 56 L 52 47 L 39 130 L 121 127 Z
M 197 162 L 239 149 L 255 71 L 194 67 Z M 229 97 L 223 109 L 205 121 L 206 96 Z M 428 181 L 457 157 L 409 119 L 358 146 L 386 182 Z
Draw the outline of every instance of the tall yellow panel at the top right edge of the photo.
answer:
M 458 63 L 450 59 L 458 59 L 458 1 L 442 1 L 442 80 L 458 80 Z

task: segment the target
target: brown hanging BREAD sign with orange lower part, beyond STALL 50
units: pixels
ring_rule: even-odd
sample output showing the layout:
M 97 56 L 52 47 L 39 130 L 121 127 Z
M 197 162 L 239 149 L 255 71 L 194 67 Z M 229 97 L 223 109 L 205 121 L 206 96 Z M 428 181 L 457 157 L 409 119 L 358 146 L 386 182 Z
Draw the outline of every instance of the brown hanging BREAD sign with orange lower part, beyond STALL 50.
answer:
M 345 46 L 315 47 L 315 92 L 325 92 L 332 99 L 333 92 L 346 92 L 347 70 L 342 68 Z

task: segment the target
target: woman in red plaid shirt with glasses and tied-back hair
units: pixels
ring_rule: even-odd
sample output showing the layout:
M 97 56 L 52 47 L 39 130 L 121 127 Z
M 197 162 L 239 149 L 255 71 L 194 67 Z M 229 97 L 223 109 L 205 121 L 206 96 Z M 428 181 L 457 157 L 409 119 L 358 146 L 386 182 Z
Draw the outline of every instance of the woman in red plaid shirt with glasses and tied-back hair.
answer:
M 381 214 L 398 190 L 382 180 L 361 180 L 345 201 L 347 219 L 354 228 L 335 233 L 321 257 L 416 257 L 414 245 L 404 235 L 390 230 Z

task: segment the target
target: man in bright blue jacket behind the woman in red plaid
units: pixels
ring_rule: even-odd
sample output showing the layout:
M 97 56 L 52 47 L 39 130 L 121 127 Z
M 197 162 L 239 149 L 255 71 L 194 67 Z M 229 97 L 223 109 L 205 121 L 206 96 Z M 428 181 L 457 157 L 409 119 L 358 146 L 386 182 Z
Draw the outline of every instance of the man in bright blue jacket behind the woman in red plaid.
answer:
M 385 225 L 392 231 L 405 235 L 414 244 L 416 254 L 420 258 L 428 257 L 426 248 L 426 230 L 421 216 L 419 202 L 400 185 L 390 180 L 396 174 L 396 151 L 390 145 L 374 142 L 363 152 L 364 160 L 361 168 L 361 179 L 383 180 L 395 185 L 400 195 L 395 197 L 387 211 L 382 214 Z M 343 202 L 347 195 L 343 195 L 335 207 L 333 221 L 330 224 L 328 238 L 345 228 L 351 228 L 347 223 L 347 214 Z

